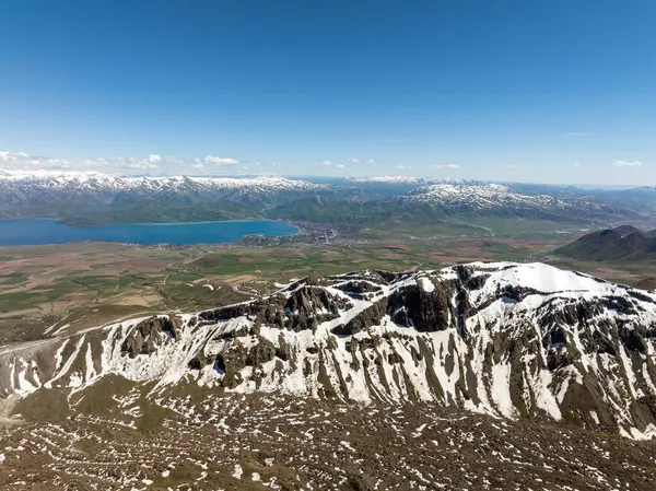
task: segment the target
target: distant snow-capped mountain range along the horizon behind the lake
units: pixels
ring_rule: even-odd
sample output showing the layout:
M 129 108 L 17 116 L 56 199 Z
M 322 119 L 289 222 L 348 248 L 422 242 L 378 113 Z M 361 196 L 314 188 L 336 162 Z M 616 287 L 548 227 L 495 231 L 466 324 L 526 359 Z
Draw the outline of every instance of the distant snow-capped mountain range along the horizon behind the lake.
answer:
M 370 217 L 385 220 L 415 214 L 442 220 L 491 215 L 553 221 L 641 220 L 651 209 L 609 204 L 585 195 L 547 196 L 515 192 L 500 184 L 460 179 L 371 177 L 313 183 L 284 177 L 130 177 L 101 173 L 12 171 L 0 174 L 0 217 L 51 217 L 75 223 L 115 221 L 225 220 L 266 215 L 271 219 L 307 221 L 302 200 L 326 197 L 336 203 L 321 213 L 323 222 L 337 223 L 348 200 L 368 201 Z M 292 210 L 281 210 L 298 201 Z M 380 207 L 378 207 L 378 204 Z M 293 208 L 293 207 L 292 207 Z M 644 208 L 644 207 L 643 207 Z M 426 209 L 427 214 L 426 214 Z M 365 210 L 365 211 L 366 211 Z M 332 214 L 336 214 L 335 217 Z M 366 215 L 366 212 L 364 213 Z M 366 218 L 366 217 L 365 217 Z M 312 221 L 312 220 L 309 220 Z

